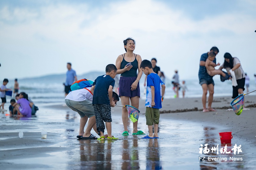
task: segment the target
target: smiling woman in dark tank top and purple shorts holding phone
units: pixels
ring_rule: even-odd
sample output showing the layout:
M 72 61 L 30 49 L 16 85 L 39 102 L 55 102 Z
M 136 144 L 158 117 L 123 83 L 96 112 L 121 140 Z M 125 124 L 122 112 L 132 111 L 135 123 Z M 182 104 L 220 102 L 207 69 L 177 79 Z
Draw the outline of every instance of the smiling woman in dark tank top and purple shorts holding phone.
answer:
M 121 74 L 119 80 L 119 96 L 122 105 L 130 105 L 139 109 L 140 100 L 140 84 L 139 80 L 142 75 L 140 70 L 141 57 L 134 54 L 135 41 L 132 38 L 124 40 L 124 49 L 126 53 L 119 55 L 116 59 L 117 74 Z M 126 64 L 131 63 L 131 66 Z M 137 75 L 138 70 L 138 75 Z M 128 133 L 128 112 L 126 107 L 122 108 L 122 120 L 124 125 L 124 132 L 122 135 L 129 135 Z M 138 121 L 133 123 L 132 135 L 144 135 L 144 133 L 137 129 Z

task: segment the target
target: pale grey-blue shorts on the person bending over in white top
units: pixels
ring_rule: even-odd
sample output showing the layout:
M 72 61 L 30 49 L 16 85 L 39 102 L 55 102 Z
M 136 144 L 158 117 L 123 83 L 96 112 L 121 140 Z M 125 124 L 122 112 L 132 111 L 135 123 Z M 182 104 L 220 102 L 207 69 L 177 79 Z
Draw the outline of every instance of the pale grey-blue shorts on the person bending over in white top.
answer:
M 73 101 L 69 99 L 65 99 L 65 102 L 69 108 L 77 112 L 80 117 L 92 117 L 95 116 L 94 109 L 92 106 L 92 102 L 90 100 L 84 100 L 84 101 Z

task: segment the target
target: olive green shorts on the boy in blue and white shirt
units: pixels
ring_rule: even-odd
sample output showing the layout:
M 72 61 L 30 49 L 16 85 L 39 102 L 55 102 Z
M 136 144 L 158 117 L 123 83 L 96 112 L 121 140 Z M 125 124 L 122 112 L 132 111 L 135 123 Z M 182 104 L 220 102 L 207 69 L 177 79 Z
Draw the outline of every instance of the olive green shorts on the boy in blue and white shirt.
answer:
M 154 123 L 159 123 L 159 109 L 152 108 L 152 107 L 146 107 L 146 122 L 147 125 L 152 126 Z

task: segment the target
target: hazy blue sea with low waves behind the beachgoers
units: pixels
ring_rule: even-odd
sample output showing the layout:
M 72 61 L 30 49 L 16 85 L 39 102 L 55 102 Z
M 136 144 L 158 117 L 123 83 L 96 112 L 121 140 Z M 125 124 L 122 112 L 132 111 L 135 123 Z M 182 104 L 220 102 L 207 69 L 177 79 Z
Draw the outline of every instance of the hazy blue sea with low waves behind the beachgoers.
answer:
M 95 76 L 94 76 L 95 77 Z M 82 79 L 84 77 L 79 77 L 78 79 Z M 95 77 L 96 78 L 96 77 Z M 94 80 L 94 78 L 90 78 Z M 140 94 L 141 99 L 146 99 L 146 95 L 144 94 L 144 75 L 140 81 Z M 33 100 L 34 103 L 65 103 L 65 92 L 64 92 L 64 79 L 60 78 L 28 78 L 28 79 L 20 79 L 18 80 L 20 85 L 19 92 L 26 92 L 28 96 Z M 222 97 L 222 96 L 232 96 L 232 84 L 231 81 L 221 82 L 219 76 L 214 77 L 214 97 Z M 255 84 L 253 81 L 250 82 L 249 90 L 255 89 Z M 7 84 L 7 88 L 13 89 L 14 81 L 10 80 Z M 174 91 L 172 89 L 171 80 L 166 80 L 165 82 L 166 89 L 164 98 L 171 99 L 174 98 Z M 201 97 L 202 96 L 202 87 L 199 84 L 198 79 L 188 79 L 186 80 L 186 85 L 188 91 L 185 93 L 186 98 L 193 97 Z M 180 97 L 182 97 L 182 92 L 179 93 Z M 9 104 L 9 100 L 11 97 L 7 97 L 7 103 Z

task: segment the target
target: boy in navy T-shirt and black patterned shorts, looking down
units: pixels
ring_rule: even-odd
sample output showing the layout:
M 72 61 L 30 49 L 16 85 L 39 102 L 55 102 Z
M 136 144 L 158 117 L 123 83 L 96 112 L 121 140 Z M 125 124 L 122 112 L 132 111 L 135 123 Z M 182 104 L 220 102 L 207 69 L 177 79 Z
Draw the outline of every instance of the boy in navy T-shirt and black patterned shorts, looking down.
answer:
M 117 69 L 114 64 L 108 64 L 106 74 L 99 76 L 92 84 L 91 92 L 93 93 L 92 105 L 95 113 L 96 127 L 100 137 L 98 140 L 104 140 L 104 129 L 108 132 L 108 139 L 118 139 L 112 136 L 111 132 L 111 108 L 115 107 L 119 100 L 118 95 L 112 96 L 112 89 L 115 85 L 114 78 L 116 77 Z M 104 122 L 103 122 L 104 121 Z

